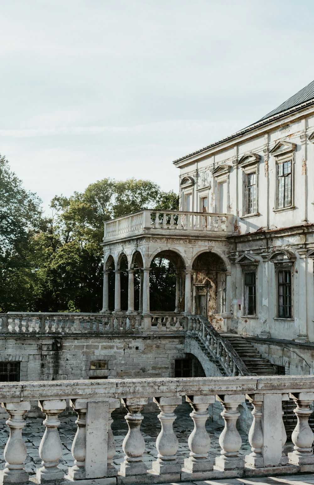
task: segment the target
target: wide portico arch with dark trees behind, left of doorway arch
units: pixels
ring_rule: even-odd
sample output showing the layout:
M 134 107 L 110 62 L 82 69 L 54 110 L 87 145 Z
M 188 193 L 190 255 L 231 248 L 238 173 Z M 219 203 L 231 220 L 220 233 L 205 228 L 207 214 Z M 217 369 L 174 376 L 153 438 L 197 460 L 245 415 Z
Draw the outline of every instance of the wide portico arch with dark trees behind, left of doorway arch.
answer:
M 150 311 L 184 311 L 184 263 L 178 253 L 161 251 L 150 263 Z

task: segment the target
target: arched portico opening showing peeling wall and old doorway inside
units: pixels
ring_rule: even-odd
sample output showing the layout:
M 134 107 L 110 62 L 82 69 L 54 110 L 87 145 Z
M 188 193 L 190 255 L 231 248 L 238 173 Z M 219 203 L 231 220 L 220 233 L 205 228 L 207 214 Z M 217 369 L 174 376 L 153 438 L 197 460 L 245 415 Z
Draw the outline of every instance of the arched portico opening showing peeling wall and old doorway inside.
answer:
M 215 253 L 202 253 L 193 262 L 193 313 L 212 322 L 225 313 L 226 269 Z

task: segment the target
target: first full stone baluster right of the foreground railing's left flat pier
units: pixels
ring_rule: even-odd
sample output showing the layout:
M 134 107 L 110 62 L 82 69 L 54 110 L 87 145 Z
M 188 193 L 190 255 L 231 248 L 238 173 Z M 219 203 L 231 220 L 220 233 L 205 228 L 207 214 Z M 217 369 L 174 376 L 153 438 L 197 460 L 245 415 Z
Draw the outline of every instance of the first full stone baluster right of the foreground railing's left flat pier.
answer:
M 129 431 L 122 443 L 122 450 L 125 453 L 124 462 L 120 465 L 119 474 L 123 477 L 144 475 L 147 468 L 142 460 L 145 451 L 145 441 L 140 432 L 141 422 L 144 416 L 141 415 L 143 406 L 147 404 L 145 398 L 126 398 L 121 399 L 128 414 L 124 416 L 128 423 Z

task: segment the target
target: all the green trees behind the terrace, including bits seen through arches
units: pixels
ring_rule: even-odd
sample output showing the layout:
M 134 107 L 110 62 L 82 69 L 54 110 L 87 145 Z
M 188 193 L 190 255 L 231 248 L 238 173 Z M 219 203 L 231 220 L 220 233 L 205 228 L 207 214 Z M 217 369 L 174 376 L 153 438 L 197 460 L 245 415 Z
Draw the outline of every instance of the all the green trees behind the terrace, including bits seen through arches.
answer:
M 3 157 L 0 158 L 0 200 L 2 312 L 99 311 L 104 221 L 146 208 L 178 208 L 178 196 L 174 192 L 161 192 L 149 180 L 104 178 L 90 184 L 82 193 L 75 192 L 70 197 L 56 195 L 50 203 L 51 216 L 44 218 L 40 199 L 23 189 L 21 180 L 10 171 Z M 163 302 L 167 298 L 163 288 L 167 284 L 173 287 L 172 268 L 162 264 L 158 271 L 162 283 L 157 280 L 152 283 L 155 293 L 152 302 L 156 300 L 156 305 L 160 304 L 160 298 Z M 135 300 L 137 286 L 135 281 Z M 127 273 L 122 275 L 121 285 L 124 306 L 126 289 Z M 173 290 L 168 295 L 170 299 L 173 299 L 172 293 Z

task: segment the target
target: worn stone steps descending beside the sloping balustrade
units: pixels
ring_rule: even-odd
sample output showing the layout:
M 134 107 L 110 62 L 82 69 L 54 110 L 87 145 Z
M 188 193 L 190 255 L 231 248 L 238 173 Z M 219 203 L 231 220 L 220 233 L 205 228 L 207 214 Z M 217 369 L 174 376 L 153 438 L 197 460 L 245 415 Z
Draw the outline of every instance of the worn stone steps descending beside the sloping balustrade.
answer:
M 274 366 L 263 358 L 252 343 L 235 334 L 224 334 L 249 371 L 257 375 L 276 375 Z

